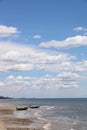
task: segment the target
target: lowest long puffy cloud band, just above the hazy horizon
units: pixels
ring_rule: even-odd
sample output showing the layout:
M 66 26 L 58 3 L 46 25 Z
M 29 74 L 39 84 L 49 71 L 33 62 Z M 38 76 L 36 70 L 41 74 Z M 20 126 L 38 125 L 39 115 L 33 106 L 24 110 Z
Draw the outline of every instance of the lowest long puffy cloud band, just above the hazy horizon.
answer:
M 44 75 L 42 77 L 23 77 L 13 75 L 8 76 L 0 87 L 17 88 L 15 91 L 23 89 L 55 89 L 55 88 L 76 88 L 79 76 L 75 73 L 62 73 L 56 76 Z

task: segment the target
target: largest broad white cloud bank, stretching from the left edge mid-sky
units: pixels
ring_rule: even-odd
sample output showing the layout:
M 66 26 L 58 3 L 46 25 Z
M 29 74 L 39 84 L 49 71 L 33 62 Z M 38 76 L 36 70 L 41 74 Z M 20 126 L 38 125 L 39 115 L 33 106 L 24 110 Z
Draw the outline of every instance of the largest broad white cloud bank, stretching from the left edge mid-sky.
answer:
M 9 42 L 0 43 L 0 50 L 0 71 L 2 72 L 33 69 L 52 71 L 52 67 L 55 67 L 56 71 L 61 69 L 61 66 L 69 66 L 70 60 L 74 58 L 68 54 L 51 54 Z

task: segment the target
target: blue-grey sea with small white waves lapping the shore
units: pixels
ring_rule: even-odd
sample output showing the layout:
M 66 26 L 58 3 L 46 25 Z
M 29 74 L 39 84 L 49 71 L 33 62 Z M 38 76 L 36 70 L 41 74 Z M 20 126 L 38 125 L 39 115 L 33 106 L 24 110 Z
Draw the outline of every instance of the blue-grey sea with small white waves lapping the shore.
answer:
M 26 126 L 29 128 L 87 130 L 87 98 L 0 99 L 0 105 L 39 105 L 37 109 L 14 111 L 15 117 L 34 120 Z

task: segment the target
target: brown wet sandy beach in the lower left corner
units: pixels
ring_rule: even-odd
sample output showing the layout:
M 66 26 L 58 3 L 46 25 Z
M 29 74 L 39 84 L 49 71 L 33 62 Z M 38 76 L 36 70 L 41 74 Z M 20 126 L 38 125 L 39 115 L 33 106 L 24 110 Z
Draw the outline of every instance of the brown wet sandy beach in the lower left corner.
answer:
M 13 114 L 15 111 L 15 106 L 0 106 L 0 130 L 43 130 L 43 128 L 29 128 L 33 120 L 17 118 Z

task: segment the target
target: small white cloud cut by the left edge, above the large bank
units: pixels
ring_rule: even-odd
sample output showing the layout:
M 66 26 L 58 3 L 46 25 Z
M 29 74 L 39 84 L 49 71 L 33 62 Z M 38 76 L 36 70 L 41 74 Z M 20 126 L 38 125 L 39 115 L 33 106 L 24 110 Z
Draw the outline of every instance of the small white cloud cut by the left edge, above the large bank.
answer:
M 9 37 L 17 33 L 19 33 L 19 31 L 15 27 L 0 25 L 0 37 Z

